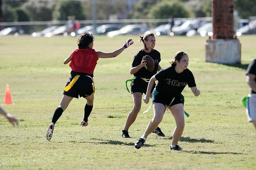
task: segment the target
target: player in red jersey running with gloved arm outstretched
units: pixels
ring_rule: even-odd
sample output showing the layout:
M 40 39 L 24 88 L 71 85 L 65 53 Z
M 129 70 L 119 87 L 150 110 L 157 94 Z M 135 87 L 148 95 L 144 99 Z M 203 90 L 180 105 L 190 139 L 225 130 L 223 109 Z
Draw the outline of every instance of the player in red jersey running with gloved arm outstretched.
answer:
M 69 78 L 66 87 L 64 88 L 63 97 L 60 105 L 53 113 L 52 122 L 46 132 L 46 139 L 52 138 L 54 124 L 60 118 L 62 113 L 68 107 L 68 104 L 75 97 L 84 97 L 87 102 L 84 107 L 84 119 L 81 122 L 82 126 L 88 125 L 88 117 L 93 109 L 94 100 L 94 82 L 93 72 L 99 58 L 116 57 L 124 51 L 127 47 L 133 44 L 132 39 L 128 39 L 124 46 L 115 50 L 112 53 L 103 53 L 93 49 L 94 36 L 85 32 L 79 36 L 78 49 L 73 51 L 68 58 L 64 60 L 64 64 L 69 63 L 71 67 L 71 77 Z

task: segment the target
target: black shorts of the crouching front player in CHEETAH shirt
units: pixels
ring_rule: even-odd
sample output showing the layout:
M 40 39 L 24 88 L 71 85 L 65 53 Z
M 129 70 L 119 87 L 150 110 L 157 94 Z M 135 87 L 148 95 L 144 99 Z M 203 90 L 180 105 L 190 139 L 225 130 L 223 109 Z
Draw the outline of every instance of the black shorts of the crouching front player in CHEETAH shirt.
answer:
M 157 91 L 157 90 L 155 90 Z M 155 93 L 154 91 L 154 93 Z M 180 96 L 176 96 L 173 100 L 173 98 L 166 98 L 164 96 L 162 96 L 160 93 L 155 93 L 156 95 L 153 96 L 153 103 L 162 103 L 164 106 L 167 105 L 167 107 L 171 107 L 173 105 L 182 103 L 181 100 L 181 95 Z M 172 102 L 173 100 L 173 102 Z

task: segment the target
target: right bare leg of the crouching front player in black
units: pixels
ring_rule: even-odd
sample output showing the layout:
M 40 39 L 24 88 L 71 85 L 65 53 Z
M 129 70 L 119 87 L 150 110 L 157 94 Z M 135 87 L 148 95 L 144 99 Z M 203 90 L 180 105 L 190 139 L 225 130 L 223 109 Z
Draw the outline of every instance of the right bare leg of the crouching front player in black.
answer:
M 169 109 L 176 122 L 176 128 L 173 131 L 172 145 L 177 145 L 185 126 L 183 105 L 181 103 L 176 104 L 171 106 Z

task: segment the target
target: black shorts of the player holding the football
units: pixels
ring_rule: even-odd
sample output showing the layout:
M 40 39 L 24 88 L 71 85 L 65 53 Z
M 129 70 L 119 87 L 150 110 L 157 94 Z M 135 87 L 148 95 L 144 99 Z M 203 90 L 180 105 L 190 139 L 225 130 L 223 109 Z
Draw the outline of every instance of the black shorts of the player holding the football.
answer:
M 140 92 L 142 94 L 143 93 L 146 94 L 147 86 L 148 86 L 148 82 L 142 80 L 142 78 L 137 77 L 131 82 L 131 93 Z M 155 88 L 155 84 L 151 89 L 151 93 L 153 92 L 154 88 Z

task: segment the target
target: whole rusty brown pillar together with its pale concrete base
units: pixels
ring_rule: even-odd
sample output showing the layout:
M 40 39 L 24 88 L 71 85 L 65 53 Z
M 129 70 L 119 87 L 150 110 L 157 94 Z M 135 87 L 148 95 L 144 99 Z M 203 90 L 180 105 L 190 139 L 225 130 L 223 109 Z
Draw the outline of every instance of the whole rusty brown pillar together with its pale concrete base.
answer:
M 213 35 L 206 40 L 206 62 L 241 63 L 241 44 L 234 38 L 233 11 L 233 0 L 212 0 Z

